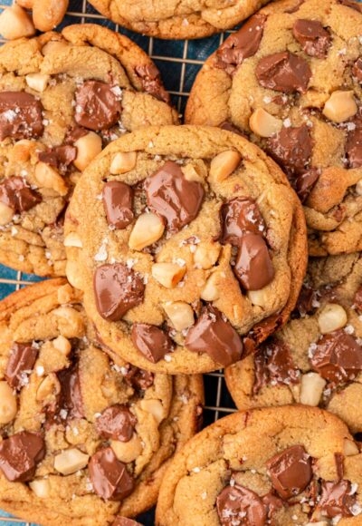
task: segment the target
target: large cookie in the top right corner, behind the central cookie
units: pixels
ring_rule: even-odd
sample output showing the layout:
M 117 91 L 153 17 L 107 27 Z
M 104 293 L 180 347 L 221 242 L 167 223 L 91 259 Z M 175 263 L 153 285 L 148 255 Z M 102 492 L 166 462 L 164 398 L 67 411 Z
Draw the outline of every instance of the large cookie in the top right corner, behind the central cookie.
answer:
M 281 165 L 312 256 L 362 249 L 361 11 L 271 2 L 206 61 L 187 104 L 186 122 L 233 126 Z

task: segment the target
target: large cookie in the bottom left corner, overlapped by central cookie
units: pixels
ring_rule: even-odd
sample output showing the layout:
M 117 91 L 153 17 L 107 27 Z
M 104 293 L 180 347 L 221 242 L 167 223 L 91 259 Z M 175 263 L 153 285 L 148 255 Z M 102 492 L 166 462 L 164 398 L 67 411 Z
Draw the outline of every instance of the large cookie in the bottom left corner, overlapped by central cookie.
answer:
M 106 526 L 155 504 L 169 459 L 198 429 L 202 378 L 111 360 L 63 278 L 6 297 L 0 327 L 0 508 Z

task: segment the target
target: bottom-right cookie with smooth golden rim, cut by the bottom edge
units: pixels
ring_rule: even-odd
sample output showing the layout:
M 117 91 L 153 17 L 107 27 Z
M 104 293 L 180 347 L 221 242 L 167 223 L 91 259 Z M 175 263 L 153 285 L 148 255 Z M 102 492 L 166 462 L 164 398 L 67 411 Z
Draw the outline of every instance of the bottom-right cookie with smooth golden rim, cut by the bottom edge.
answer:
M 348 427 L 326 411 L 300 405 L 232 414 L 176 454 L 156 523 L 357 526 L 361 468 Z

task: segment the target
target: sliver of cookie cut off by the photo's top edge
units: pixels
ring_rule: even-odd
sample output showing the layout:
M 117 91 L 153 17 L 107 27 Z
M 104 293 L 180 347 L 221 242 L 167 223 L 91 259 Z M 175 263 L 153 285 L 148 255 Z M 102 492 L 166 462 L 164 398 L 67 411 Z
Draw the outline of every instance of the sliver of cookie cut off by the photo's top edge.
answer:
M 202 38 L 230 29 L 268 0 L 90 0 L 116 24 L 157 38 Z

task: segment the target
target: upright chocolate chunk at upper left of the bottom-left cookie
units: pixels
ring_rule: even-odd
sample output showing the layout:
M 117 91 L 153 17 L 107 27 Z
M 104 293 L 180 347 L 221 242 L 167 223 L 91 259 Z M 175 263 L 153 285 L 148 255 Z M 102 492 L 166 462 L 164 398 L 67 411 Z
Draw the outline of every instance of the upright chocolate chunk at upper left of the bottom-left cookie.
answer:
M 11 350 L 9 361 L 7 362 L 5 377 L 10 387 L 19 389 L 27 383 L 27 375 L 33 371 L 38 349 L 28 344 L 14 343 Z

